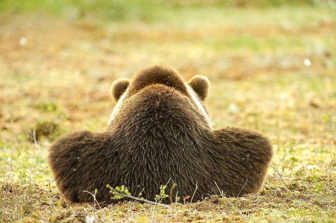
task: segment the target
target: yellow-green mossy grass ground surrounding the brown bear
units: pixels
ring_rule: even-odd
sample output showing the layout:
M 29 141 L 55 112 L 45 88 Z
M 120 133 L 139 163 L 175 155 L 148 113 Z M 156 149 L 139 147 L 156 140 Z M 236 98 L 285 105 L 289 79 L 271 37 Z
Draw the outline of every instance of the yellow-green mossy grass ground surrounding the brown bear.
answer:
M 274 145 L 259 195 L 171 204 L 178 221 L 336 222 L 334 1 L 0 7 L 0 222 L 174 221 L 152 204 L 64 200 L 32 139 L 36 128 L 46 157 L 61 134 L 103 131 L 112 82 L 154 64 L 208 76 L 213 126 L 256 128 Z

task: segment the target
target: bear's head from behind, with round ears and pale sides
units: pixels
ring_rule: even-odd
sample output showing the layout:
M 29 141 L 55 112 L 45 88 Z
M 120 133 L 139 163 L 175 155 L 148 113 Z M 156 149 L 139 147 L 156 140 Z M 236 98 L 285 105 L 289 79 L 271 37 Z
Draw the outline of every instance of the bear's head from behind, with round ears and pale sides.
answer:
M 209 88 L 210 81 L 206 76 L 195 75 L 188 82 L 185 82 L 183 77 L 173 68 L 157 65 L 143 69 L 137 72 L 132 80 L 117 79 L 113 82 L 111 86 L 111 96 L 117 104 L 111 114 L 109 125 L 123 106 L 127 107 L 127 104 L 133 104 L 139 109 L 135 103 L 138 104 L 138 98 L 142 97 L 143 99 L 147 99 L 146 102 L 141 100 L 142 103 L 148 104 L 150 104 L 150 100 L 153 101 L 157 99 L 160 105 L 160 100 L 164 100 L 161 106 L 167 108 L 167 114 L 176 109 L 176 107 L 171 107 L 174 103 L 171 104 L 170 101 L 180 101 L 179 106 L 183 108 L 189 105 L 193 108 L 193 112 L 203 116 L 203 125 L 211 128 L 211 122 L 203 103 L 208 96 Z M 167 97 L 155 98 L 156 94 L 167 94 Z M 151 97 L 153 98 L 151 99 Z M 168 97 L 171 97 L 171 99 Z M 188 101 L 188 103 L 186 101 Z M 153 107 L 147 108 L 147 111 L 151 111 L 152 108 Z M 141 112 L 145 111 L 146 110 L 143 110 Z M 138 110 L 138 112 L 140 111 Z

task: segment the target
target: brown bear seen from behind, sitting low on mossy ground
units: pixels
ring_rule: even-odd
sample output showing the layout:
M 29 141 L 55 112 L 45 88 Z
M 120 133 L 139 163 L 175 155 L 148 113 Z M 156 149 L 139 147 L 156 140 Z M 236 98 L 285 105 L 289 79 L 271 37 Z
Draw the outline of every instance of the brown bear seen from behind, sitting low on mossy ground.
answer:
M 213 130 L 203 106 L 208 90 L 206 77 L 186 83 L 162 66 L 116 80 L 111 93 L 118 102 L 104 132 L 76 131 L 50 145 L 48 164 L 59 190 L 73 202 L 92 201 L 83 190 L 95 188 L 98 202 L 110 202 L 107 184 L 125 185 L 134 196 L 143 190 L 143 198 L 155 200 L 168 181 L 166 194 L 179 197 L 192 197 L 197 183 L 193 201 L 219 190 L 234 197 L 257 193 L 272 145 L 256 130 Z

